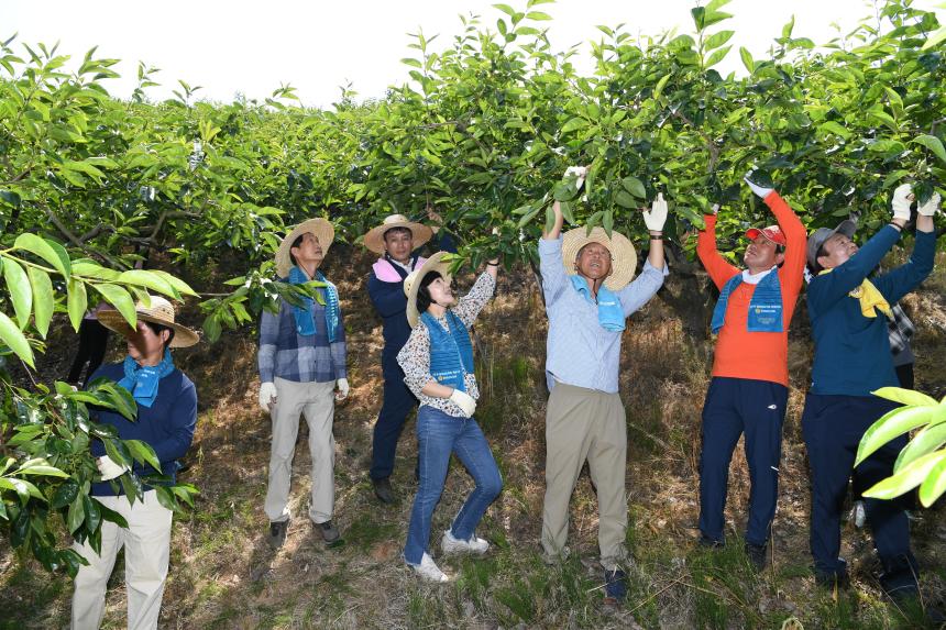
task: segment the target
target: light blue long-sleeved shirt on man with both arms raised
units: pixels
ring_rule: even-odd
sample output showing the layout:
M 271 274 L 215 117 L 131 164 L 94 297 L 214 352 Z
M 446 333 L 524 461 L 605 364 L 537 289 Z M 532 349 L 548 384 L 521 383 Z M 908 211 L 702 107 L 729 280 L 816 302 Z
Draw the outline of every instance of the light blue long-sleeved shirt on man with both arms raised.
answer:
M 549 316 L 546 347 L 549 390 L 559 382 L 616 394 L 622 333 L 603 329 L 597 319 L 597 306 L 572 286 L 562 264 L 561 236 L 554 241 L 539 240 L 539 261 Z M 666 263 L 660 270 L 646 262 L 644 272 L 617 291 L 624 317 L 646 305 L 669 273 Z

